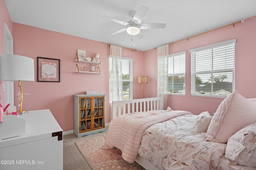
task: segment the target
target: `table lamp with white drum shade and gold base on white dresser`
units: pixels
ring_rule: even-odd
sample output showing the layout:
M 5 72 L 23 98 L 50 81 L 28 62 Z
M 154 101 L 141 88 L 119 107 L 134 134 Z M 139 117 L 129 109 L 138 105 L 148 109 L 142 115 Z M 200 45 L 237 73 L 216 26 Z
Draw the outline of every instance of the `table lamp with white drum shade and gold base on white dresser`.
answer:
M 22 110 L 23 91 L 20 81 L 34 81 L 34 59 L 20 55 L 1 54 L 0 55 L 0 80 L 2 81 L 18 81 L 20 87 L 20 110 L 18 114 L 23 114 Z

